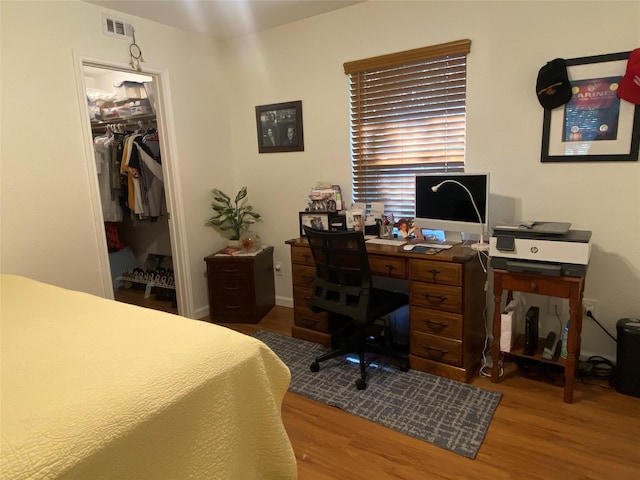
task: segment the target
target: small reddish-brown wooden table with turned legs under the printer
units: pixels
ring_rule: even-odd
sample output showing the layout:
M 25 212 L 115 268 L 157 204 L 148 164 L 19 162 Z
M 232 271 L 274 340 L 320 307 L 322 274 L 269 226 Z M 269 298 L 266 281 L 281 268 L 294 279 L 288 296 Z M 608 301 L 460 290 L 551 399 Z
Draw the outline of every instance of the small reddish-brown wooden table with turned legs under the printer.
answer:
M 582 295 L 584 293 L 584 277 L 549 277 L 545 275 L 533 275 L 525 273 L 512 273 L 506 270 L 493 271 L 493 343 L 491 344 L 491 358 L 493 368 L 491 381 L 497 383 L 500 380 L 500 312 L 503 290 L 535 293 L 551 297 L 569 299 L 569 335 L 567 338 L 567 358 L 558 362 L 543 360 L 540 353 L 536 355 L 524 355 L 521 349 L 515 348 L 509 352 L 511 355 L 534 358 L 535 360 L 555 363 L 564 366 L 564 401 L 573 402 L 573 382 L 578 361 L 580 359 L 580 336 L 582 333 Z M 538 343 L 544 344 L 544 339 Z M 517 342 L 516 342 L 517 347 Z M 541 349 L 539 349 L 541 350 Z

